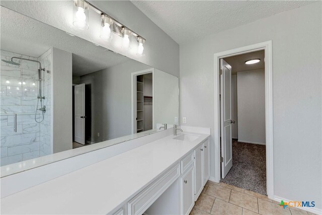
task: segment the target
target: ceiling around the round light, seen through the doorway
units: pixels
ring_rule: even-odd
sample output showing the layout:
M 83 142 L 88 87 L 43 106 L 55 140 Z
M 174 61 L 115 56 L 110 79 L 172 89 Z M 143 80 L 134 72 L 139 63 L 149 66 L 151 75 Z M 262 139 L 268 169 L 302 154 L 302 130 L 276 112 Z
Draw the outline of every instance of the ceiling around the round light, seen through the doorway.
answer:
M 260 62 L 254 64 L 246 64 L 246 60 L 261 59 Z M 238 71 L 247 71 L 253 69 L 265 68 L 265 51 L 254 51 L 246 54 L 239 54 L 226 57 L 224 60 L 231 66 L 231 74 L 235 75 Z

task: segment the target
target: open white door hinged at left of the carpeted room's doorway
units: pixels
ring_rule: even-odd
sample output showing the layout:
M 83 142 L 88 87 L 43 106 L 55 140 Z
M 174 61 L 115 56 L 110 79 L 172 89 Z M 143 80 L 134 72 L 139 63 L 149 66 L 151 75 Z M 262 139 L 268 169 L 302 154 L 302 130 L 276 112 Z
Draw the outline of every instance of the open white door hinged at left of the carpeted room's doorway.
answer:
M 231 142 L 231 66 L 220 59 L 220 130 L 221 130 L 221 177 L 225 178 L 232 167 Z

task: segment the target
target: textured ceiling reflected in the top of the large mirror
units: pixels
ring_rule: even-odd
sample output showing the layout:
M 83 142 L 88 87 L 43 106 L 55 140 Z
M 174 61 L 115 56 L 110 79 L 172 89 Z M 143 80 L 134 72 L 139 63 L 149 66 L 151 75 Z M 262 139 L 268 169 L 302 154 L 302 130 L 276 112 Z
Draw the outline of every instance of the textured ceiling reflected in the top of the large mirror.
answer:
M 1 7 L 1 49 L 39 57 L 50 47 L 72 52 L 73 74 L 82 76 L 129 58 Z

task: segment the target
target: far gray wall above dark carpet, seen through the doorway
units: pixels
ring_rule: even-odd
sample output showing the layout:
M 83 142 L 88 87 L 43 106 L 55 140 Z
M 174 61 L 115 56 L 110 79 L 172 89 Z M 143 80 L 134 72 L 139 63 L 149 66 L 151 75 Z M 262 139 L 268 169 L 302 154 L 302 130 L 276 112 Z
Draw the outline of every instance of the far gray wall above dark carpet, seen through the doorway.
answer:
M 266 143 L 265 70 L 237 73 L 238 141 Z

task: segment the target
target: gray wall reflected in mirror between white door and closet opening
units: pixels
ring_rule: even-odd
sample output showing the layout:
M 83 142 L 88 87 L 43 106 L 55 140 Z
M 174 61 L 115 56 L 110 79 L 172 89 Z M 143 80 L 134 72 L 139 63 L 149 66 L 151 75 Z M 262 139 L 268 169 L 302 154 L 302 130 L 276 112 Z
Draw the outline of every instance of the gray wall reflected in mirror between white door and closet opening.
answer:
M 81 77 L 91 91 L 92 139 L 87 140 L 100 142 L 132 133 L 131 73 L 147 68 L 129 60 Z

